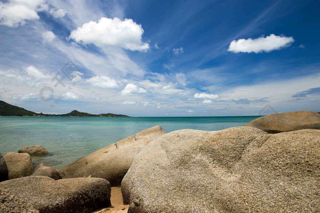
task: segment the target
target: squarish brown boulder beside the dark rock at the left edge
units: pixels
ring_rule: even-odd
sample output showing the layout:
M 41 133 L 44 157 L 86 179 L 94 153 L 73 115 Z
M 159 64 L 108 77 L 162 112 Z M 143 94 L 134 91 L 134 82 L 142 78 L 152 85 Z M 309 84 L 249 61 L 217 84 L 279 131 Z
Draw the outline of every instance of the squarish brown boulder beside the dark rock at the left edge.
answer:
M 8 166 L 9 179 L 21 178 L 31 174 L 33 165 L 28 153 L 9 152 L 4 156 Z

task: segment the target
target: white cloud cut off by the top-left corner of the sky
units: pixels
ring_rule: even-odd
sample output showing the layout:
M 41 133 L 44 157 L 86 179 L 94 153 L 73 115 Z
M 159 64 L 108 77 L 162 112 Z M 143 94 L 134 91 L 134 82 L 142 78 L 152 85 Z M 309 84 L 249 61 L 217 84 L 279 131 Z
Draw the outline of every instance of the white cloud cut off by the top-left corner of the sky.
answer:
M 46 11 L 49 6 L 44 0 L 24 0 L 9 3 L 0 2 L 0 24 L 8 27 L 18 27 L 26 23 L 26 20 L 39 19 L 37 11 Z

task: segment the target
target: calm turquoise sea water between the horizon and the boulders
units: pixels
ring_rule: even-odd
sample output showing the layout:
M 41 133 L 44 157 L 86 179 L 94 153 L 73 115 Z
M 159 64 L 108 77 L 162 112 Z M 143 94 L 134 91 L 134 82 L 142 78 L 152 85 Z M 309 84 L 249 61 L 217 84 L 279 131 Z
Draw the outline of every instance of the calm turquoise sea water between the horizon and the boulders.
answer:
M 180 129 L 215 131 L 244 126 L 260 116 L 232 117 L 0 117 L 0 152 L 41 145 L 50 154 L 32 156 L 58 171 L 100 148 L 160 125 L 165 133 Z

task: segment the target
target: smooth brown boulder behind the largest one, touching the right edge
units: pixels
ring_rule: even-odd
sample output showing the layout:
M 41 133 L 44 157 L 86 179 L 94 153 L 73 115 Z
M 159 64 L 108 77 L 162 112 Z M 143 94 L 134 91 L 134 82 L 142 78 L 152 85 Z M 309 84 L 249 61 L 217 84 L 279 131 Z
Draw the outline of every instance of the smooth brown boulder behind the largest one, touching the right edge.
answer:
M 271 114 L 257 118 L 244 126 L 256 127 L 272 134 L 300 129 L 320 129 L 320 112 L 299 111 Z

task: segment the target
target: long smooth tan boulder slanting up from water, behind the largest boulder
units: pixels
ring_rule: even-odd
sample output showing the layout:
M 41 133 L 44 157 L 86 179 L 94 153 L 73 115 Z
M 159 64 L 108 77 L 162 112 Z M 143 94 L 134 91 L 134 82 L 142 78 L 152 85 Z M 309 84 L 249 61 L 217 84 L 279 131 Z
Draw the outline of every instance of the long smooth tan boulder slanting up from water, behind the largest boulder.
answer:
M 165 134 L 154 126 L 102 148 L 60 171 L 62 178 L 92 177 L 107 179 L 111 186 L 120 185 L 134 157 L 151 141 Z

